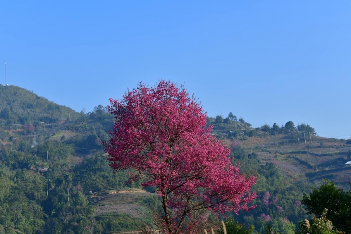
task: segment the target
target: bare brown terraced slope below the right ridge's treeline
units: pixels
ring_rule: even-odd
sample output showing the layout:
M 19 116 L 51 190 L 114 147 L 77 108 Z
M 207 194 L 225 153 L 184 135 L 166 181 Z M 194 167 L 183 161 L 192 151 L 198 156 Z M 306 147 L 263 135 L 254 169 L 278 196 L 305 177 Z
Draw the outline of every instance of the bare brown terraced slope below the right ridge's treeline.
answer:
M 306 143 L 300 139 L 300 145 L 289 139 L 289 134 L 253 136 L 238 143 L 247 152 L 257 153 L 262 163 L 276 161 L 282 174 L 292 182 L 327 178 L 349 187 L 351 167 L 344 164 L 351 160 L 351 145 L 319 136 L 312 136 L 312 143 L 309 138 Z

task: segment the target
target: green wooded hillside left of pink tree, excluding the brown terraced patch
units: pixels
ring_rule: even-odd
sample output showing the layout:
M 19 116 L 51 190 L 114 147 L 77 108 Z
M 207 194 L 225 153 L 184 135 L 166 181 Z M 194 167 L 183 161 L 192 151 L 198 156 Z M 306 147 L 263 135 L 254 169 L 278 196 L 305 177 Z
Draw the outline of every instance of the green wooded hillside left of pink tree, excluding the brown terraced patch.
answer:
M 113 174 L 104 156 L 87 155 L 101 150 L 112 116 L 101 105 L 76 113 L 15 86 L 0 86 L 0 98 L 0 224 L 24 233 L 102 233 L 108 225 L 95 219 L 89 192 L 123 189 L 126 172 Z M 136 228 L 110 221 L 112 232 Z

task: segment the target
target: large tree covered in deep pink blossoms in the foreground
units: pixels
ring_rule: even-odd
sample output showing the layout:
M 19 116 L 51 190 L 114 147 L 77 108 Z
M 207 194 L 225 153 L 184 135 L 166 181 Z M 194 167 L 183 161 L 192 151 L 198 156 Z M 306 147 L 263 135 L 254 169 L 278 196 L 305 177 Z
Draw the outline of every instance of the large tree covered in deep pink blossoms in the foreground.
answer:
M 153 186 L 161 198 L 165 233 L 186 233 L 199 212 L 250 210 L 253 175 L 239 173 L 230 149 L 210 135 L 206 113 L 183 86 L 161 80 L 110 99 L 114 114 L 110 141 L 103 141 L 115 170 L 132 169 L 129 182 Z

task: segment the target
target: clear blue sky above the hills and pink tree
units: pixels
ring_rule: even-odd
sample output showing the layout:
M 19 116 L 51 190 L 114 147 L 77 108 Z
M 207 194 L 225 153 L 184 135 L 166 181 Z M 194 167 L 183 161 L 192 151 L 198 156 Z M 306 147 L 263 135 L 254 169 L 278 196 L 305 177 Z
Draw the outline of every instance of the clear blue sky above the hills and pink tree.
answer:
M 209 116 L 351 134 L 350 1 L 3 1 L 0 20 L 7 83 L 78 112 L 164 78 Z

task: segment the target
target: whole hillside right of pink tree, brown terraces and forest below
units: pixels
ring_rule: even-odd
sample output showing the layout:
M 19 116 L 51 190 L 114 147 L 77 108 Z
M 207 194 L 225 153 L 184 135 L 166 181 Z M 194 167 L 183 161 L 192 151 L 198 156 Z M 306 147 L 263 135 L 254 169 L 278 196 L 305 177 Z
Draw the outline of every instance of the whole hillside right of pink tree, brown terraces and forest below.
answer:
M 213 125 L 213 134 L 231 145 L 233 162 L 239 162 L 243 172 L 258 173 L 254 186 L 260 194 L 258 207 L 234 216 L 258 232 L 265 232 L 269 224 L 280 233 L 293 233 L 299 221 L 310 218 L 301 204 L 303 194 L 324 183 L 324 178 L 350 188 L 351 168 L 345 166 L 351 160 L 350 139 L 322 138 L 310 125 L 295 127 L 291 121 L 252 128 L 232 113 L 227 118 L 210 117 L 208 124 Z

